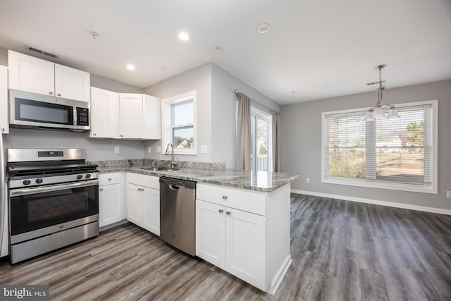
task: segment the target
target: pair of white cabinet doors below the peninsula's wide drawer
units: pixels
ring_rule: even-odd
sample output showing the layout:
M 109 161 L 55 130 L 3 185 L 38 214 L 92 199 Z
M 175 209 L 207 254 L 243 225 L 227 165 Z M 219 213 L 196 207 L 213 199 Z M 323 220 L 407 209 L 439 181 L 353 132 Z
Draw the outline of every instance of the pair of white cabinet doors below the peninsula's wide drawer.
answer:
M 265 290 L 265 217 L 196 201 L 196 255 Z

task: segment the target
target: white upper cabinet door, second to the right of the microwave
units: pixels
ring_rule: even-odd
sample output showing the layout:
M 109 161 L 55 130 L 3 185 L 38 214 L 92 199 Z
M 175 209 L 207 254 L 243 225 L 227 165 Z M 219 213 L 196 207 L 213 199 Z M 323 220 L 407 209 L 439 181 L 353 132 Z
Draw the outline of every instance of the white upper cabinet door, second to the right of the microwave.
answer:
M 142 94 L 120 94 L 121 138 L 142 139 Z

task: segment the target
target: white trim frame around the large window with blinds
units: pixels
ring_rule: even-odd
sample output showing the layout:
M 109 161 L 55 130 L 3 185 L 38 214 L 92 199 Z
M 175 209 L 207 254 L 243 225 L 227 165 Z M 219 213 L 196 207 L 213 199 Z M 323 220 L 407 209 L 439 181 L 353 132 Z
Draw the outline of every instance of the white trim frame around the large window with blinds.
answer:
M 402 190 L 408 192 L 423 192 L 423 193 L 438 193 L 438 99 L 427 100 L 424 102 L 409 102 L 404 104 L 396 104 L 397 108 L 407 106 L 423 106 L 432 105 L 433 114 L 433 129 L 431 133 L 433 135 L 433 162 L 432 162 L 432 185 L 414 185 L 406 183 L 390 183 L 381 180 L 369 180 L 369 179 L 345 179 L 345 178 L 328 178 L 324 171 L 326 167 L 325 152 L 326 152 L 326 137 L 324 130 L 326 129 L 326 116 L 339 113 L 357 113 L 368 111 L 370 108 L 364 109 L 349 109 L 342 111 L 328 111 L 321 113 L 321 183 L 338 184 L 338 185 L 351 185 L 365 188 L 381 188 L 388 190 Z

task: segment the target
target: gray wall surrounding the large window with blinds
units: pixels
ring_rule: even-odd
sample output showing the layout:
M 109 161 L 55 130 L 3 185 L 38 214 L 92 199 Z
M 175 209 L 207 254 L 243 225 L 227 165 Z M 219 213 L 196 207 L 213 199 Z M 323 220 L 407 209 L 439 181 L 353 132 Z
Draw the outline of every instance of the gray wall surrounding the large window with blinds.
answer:
M 384 100 L 389 104 L 431 99 L 438 99 L 439 110 L 437 195 L 321 183 L 321 113 L 373 106 L 376 92 L 282 106 L 281 168 L 284 172 L 300 174 L 292 189 L 451 209 L 451 199 L 446 197 L 446 191 L 451 190 L 451 80 L 384 92 Z M 309 184 L 305 178 L 310 178 Z

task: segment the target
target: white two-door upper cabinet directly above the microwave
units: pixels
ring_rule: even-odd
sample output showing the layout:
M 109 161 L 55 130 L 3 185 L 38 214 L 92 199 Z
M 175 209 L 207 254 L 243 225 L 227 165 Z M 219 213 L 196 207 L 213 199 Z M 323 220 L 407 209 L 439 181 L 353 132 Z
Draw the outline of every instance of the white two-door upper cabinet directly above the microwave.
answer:
M 89 73 L 8 50 L 9 87 L 89 102 Z

